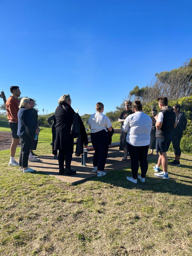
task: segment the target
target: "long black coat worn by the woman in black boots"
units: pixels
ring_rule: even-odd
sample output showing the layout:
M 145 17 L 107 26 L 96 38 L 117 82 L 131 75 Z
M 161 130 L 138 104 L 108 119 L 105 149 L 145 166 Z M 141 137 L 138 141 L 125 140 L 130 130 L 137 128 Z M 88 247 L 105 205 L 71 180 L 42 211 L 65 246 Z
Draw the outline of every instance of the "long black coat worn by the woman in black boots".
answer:
M 65 106 L 65 110 L 62 105 Z M 64 149 L 71 153 L 74 151 L 74 138 L 70 136 L 70 130 L 75 111 L 68 103 L 63 103 L 62 105 L 59 104 L 54 113 L 56 119 L 56 138 L 53 149 L 54 154 L 58 149 Z

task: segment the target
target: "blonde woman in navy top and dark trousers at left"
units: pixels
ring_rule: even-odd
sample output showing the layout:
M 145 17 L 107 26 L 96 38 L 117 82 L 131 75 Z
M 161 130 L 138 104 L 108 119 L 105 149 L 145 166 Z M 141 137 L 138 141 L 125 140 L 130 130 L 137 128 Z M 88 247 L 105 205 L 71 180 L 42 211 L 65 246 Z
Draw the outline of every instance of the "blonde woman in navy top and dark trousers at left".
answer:
M 22 98 L 18 111 L 18 131 L 17 135 L 20 138 L 21 151 L 19 156 L 19 170 L 27 173 L 34 172 L 35 170 L 28 167 L 29 152 L 31 147 L 31 139 L 34 138 L 35 133 L 38 134 L 38 130 L 33 116 L 29 109 L 31 108 L 30 100 L 28 98 Z M 27 129 L 30 132 L 30 136 L 27 134 Z

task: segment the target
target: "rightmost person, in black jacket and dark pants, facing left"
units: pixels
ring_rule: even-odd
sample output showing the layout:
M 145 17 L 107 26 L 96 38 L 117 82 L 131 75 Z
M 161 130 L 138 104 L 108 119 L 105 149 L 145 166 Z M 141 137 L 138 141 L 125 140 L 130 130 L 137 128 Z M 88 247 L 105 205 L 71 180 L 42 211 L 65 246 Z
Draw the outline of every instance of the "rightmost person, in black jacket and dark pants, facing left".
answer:
M 175 154 L 175 159 L 173 162 L 169 162 L 170 165 L 174 166 L 180 166 L 180 157 L 181 157 L 181 148 L 180 148 L 180 142 L 182 138 L 182 133 L 183 133 L 183 122 L 185 119 L 185 114 L 181 111 L 181 106 L 180 105 L 174 105 L 173 106 L 174 112 L 176 113 L 176 121 L 177 121 L 177 126 L 176 128 L 173 129 L 173 148 L 174 148 L 174 154 Z

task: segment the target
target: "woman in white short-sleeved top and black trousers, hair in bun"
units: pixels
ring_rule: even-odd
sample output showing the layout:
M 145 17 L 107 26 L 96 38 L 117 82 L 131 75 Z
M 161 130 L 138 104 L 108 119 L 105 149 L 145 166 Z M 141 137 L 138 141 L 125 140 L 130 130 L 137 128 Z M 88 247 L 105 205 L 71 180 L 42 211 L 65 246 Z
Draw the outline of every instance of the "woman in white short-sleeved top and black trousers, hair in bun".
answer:
M 92 172 L 97 173 L 97 177 L 101 177 L 106 175 L 106 172 L 103 172 L 103 170 L 109 148 L 108 131 L 112 131 L 112 125 L 109 118 L 103 114 L 103 103 L 98 102 L 95 109 L 97 113 L 92 114 L 88 121 L 91 129 L 91 142 L 95 150 Z

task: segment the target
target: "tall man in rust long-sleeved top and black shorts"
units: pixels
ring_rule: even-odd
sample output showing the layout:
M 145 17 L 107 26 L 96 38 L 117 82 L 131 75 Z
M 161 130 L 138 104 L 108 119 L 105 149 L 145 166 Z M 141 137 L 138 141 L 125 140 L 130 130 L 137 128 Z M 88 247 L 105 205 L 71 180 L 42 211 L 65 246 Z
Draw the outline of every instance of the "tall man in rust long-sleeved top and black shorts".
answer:
M 19 165 L 18 162 L 15 161 L 16 147 L 19 144 L 19 136 L 17 135 L 17 129 L 18 129 L 17 113 L 19 111 L 18 97 L 20 96 L 21 92 L 19 90 L 19 86 L 11 86 L 10 91 L 12 95 L 7 99 L 5 103 L 5 107 L 7 109 L 7 118 L 9 120 L 8 123 L 12 132 L 12 143 L 10 148 L 11 156 L 10 156 L 9 166 L 17 166 Z

